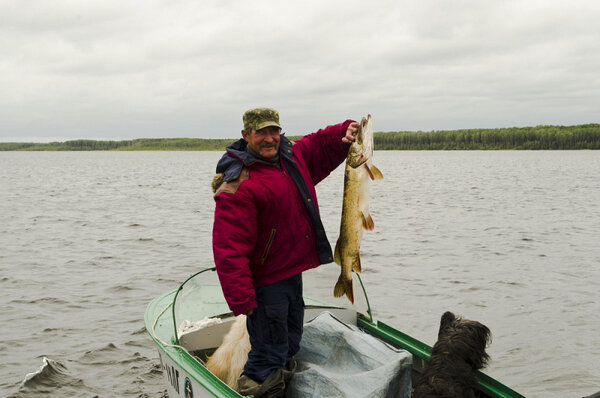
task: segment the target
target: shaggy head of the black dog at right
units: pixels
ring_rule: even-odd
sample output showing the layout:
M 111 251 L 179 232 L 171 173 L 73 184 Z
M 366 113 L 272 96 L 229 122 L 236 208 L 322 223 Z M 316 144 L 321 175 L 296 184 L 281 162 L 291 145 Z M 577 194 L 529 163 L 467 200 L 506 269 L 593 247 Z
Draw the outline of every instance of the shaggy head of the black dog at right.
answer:
M 479 370 L 487 365 L 489 355 L 485 349 L 491 342 L 492 335 L 487 326 L 447 311 L 440 320 L 438 341 L 432 355 L 447 355 L 449 359 L 464 361 Z

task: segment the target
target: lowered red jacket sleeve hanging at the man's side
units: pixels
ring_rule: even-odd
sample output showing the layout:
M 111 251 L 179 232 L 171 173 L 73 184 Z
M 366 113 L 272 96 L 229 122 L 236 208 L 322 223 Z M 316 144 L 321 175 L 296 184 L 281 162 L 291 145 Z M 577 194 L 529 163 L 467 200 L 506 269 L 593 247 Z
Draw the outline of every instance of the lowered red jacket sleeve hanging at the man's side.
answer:
M 257 211 L 247 193 L 215 196 L 213 255 L 219 281 L 235 315 L 256 308 L 249 263 L 257 237 Z

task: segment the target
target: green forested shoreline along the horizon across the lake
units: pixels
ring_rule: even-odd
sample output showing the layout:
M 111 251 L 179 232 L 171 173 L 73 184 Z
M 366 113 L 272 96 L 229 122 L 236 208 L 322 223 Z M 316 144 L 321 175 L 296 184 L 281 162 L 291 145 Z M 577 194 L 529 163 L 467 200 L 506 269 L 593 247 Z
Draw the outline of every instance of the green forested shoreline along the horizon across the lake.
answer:
M 291 139 L 299 137 L 290 137 Z M 222 151 L 236 139 L 0 143 L 0 151 Z M 600 124 L 375 133 L 377 150 L 600 149 Z

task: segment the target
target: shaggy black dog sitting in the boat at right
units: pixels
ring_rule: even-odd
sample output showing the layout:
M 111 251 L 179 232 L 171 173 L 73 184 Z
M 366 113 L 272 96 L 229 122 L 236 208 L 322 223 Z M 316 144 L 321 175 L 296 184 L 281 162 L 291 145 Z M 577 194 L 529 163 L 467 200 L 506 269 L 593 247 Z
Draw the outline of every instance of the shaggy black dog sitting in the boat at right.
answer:
M 431 351 L 413 398 L 476 398 L 476 371 L 489 360 L 490 330 L 451 312 L 442 315 L 438 340 Z

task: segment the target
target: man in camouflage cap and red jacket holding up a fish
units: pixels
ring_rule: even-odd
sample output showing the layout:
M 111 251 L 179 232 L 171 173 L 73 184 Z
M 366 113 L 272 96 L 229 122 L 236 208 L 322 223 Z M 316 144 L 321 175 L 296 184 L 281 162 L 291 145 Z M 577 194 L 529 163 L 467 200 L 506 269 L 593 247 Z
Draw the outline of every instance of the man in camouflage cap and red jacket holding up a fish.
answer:
M 347 120 L 292 143 L 274 109 L 248 110 L 243 122 L 213 181 L 213 254 L 229 308 L 248 316 L 239 390 L 278 397 L 300 348 L 302 272 L 333 261 L 315 185 L 344 161 L 359 125 Z

